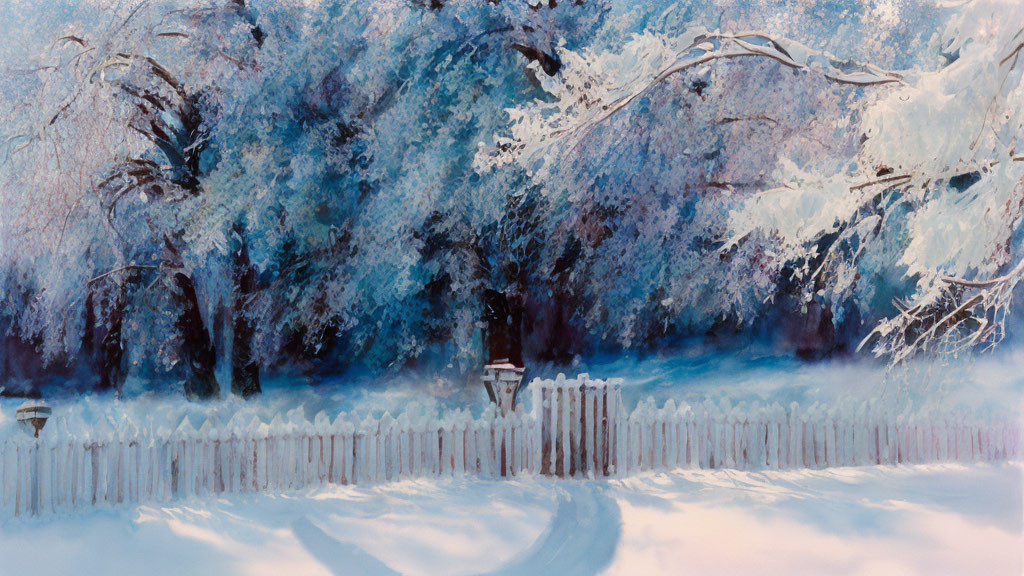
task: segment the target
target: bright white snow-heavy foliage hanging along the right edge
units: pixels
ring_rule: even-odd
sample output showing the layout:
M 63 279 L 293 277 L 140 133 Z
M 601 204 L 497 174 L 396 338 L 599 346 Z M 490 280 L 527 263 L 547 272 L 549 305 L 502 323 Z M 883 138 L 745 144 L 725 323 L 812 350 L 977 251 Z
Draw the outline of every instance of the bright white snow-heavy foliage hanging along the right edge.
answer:
M 880 336 L 879 355 L 902 361 L 923 351 L 956 354 L 994 345 L 1005 334 L 1024 271 L 1024 165 L 1015 152 L 1024 135 L 1022 41 L 1019 4 L 965 5 L 938 36 L 948 64 L 908 74 L 867 104 L 852 169 L 800 178 L 798 194 L 825 200 L 791 205 L 800 209 L 797 218 L 767 225 L 795 246 L 791 258 L 810 239 L 802 235 L 836 235 L 829 246 L 815 247 L 818 268 L 810 276 L 804 271 L 834 303 L 852 294 L 864 311 L 877 305 L 879 271 L 912 281 L 914 289 L 894 300 L 892 318 L 864 341 Z M 761 218 L 774 216 L 770 206 L 791 201 L 766 200 L 738 212 L 744 229 L 763 230 Z

